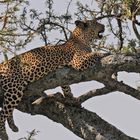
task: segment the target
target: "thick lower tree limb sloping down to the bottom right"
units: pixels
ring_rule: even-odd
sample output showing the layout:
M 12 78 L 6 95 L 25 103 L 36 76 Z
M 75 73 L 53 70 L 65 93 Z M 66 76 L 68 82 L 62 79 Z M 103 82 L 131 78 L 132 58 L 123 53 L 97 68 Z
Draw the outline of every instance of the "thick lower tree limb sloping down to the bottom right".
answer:
M 24 97 L 18 109 L 32 115 L 46 116 L 85 140 L 136 140 L 84 108 L 49 101 L 47 98 L 40 105 L 32 105 L 38 97 Z

